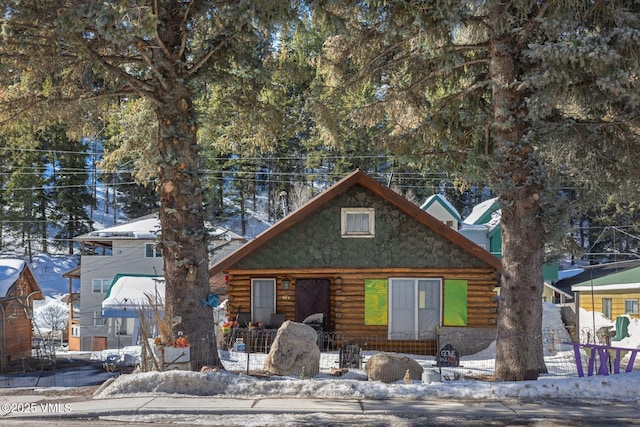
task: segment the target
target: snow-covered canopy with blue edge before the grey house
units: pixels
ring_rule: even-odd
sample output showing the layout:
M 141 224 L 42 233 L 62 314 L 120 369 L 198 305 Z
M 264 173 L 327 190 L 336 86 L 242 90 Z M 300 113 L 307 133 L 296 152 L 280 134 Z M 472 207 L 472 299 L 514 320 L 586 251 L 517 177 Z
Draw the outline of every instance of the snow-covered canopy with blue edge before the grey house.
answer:
M 139 310 L 151 309 L 147 295 L 156 299 L 162 307 L 164 277 L 119 274 L 113 278 L 109 292 L 102 301 L 102 316 L 138 317 Z

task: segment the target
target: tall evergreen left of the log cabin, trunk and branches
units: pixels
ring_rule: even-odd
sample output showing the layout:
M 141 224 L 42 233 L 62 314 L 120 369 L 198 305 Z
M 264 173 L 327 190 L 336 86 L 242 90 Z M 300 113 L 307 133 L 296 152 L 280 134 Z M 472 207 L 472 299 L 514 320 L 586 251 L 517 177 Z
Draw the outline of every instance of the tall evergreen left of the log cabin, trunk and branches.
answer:
M 61 102 L 108 96 L 140 97 L 151 104 L 157 134 L 148 155 L 158 175 L 166 303 L 182 317 L 193 368 L 221 366 L 210 312 L 200 304 L 209 293 L 208 233 L 194 93 L 208 81 L 251 75 L 250 56 L 270 48 L 270 25 L 287 16 L 297 18 L 292 7 L 297 4 L 0 2 L 5 11 L 0 53 L 11 62 L 0 72 L 4 117 L 33 106 L 51 111 Z M 28 91 L 11 90 L 20 79 Z

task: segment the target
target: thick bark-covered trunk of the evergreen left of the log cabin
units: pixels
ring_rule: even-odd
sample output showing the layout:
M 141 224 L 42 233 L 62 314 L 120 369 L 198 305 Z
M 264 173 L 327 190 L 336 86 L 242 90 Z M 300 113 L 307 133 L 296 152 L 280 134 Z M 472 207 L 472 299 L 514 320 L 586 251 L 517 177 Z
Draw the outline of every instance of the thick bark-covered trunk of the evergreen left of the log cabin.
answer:
M 166 279 L 166 312 L 181 318 L 177 331 L 191 344 L 191 366 L 221 367 L 213 314 L 201 304 L 209 294 L 207 240 L 196 153 L 191 92 L 172 83 L 159 98 L 158 147 L 160 222 Z

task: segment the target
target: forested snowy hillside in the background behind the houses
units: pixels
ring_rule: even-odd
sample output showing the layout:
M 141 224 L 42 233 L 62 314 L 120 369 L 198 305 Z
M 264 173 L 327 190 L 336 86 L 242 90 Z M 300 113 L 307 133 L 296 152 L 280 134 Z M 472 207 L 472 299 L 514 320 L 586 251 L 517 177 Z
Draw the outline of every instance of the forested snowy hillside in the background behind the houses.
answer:
M 73 254 L 74 236 L 158 210 L 153 182 L 136 182 L 132 170 L 103 171 L 103 141 L 69 139 L 64 128 L 52 127 L 45 132 L 4 134 L 0 144 L 0 245 L 5 255 Z M 311 168 L 308 158 L 318 153 L 294 154 L 282 153 L 278 159 L 215 159 L 219 170 L 203 170 L 207 182 L 217 183 L 209 187 L 208 197 L 217 201 L 215 207 L 209 206 L 208 218 L 252 238 L 261 227 L 247 230 L 249 212 L 273 223 L 340 179 L 347 173 L 342 166 L 346 162 L 372 162 L 369 156 L 336 152 L 329 158 L 323 152 L 322 167 Z M 447 171 L 399 167 L 397 158 L 384 152 L 375 158 L 375 167 L 365 171 L 418 205 L 432 194 L 444 194 L 464 218 L 474 205 L 495 196 L 482 182 L 469 180 L 461 186 Z M 299 172 L 270 169 L 277 164 Z M 637 203 L 614 195 L 593 203 L 586 212 L 575 208 L 565 227 L 571 238 L 557 242 L 560 249 L 553 255 L 573 255 L 576 262 L 636 257 L 640 246 Z

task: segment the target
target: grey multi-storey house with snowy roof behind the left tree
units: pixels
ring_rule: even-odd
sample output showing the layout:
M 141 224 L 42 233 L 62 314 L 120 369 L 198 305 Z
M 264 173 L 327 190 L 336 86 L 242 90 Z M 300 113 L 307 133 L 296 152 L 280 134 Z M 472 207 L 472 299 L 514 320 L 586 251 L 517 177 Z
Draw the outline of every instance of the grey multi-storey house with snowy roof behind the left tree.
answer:
M 118 275 L 163 275 L 159 239 L 160 221 L 157 214 L 92 231 L 74 239 L 82 247 L 80 320 L 72 324 L 72 329 L 79 333 L 80 350 L 97 351 L 135 343 L 135 319 L 128 316 L 113 317 L 114 312 L 109 317 L 104 316 L 102 303 Z M 213 230 L 210 263 L 233 252 L 244 242 L 243 238 L 227 230 Z

